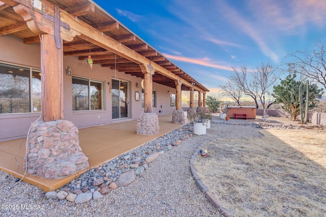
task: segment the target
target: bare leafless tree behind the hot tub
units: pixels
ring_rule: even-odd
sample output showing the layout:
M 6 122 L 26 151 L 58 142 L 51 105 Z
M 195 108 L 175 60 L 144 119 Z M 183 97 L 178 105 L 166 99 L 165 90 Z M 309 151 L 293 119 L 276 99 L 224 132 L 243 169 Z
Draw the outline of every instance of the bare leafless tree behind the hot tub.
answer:
M 269 63 L 262 63 L 260 66 L 253 68 L 251 72 L 247 71 L 246 66 L 241 66 L 240 71 L 233 68 L 233 71 L 234 73 L 229 76 L 229 82 L 236 84 L 244 95 L 251 97 L 256 104 L 256 108 L 259 107 L 259 103 L 263 109 L 271 105 L 268 96 L 270 96 L 276 80 L 280 77 L 277 68 Z

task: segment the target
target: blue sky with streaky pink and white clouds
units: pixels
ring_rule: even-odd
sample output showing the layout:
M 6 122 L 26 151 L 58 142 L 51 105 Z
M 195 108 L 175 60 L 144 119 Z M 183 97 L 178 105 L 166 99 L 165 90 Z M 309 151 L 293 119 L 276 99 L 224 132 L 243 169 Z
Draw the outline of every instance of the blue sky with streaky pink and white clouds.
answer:
M 326 40 L 322 0 L 95 0 L 135 35 L 210 90 L 232 68 L 280 66 Z

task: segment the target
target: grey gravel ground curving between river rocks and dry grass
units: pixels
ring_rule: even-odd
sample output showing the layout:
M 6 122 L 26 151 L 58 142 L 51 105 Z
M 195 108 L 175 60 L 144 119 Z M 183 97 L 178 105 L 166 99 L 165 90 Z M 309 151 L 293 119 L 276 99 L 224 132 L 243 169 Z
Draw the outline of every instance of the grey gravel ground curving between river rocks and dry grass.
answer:
M 0 204 L 8 205 L 2 206 L 0 216 L 220 216 L 197 187 L 189 159 L 199 145 L 217 138 L 259 136 L 255 123 L 213 116 L 207 135 L 187 137 L 150 163 L 149 169 L 127 187 L 83 204 L 46 199 L 42 190 L 26 182 L 9 189 L 17 179 L 0 171 Z

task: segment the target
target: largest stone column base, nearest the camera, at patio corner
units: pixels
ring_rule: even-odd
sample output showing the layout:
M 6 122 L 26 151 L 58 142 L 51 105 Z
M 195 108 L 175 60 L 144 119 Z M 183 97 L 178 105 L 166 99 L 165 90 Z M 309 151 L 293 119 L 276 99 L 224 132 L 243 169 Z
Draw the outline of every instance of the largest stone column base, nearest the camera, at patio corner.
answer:
M 38 121 L 31 128 L 28 142 L 29 174 L 57 179 L 89 167 L 88 157 L 79 146 L 78 129 L 71 121 Z

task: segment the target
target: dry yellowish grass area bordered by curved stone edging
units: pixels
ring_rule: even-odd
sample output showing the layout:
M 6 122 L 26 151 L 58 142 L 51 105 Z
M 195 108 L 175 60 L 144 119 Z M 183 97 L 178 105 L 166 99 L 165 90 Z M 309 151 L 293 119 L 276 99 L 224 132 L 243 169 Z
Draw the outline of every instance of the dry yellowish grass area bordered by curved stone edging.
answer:
M 196 168 L 212 194 L 235 216 L 325 216 L 325 132 L 260 132 L 205 145 Z

